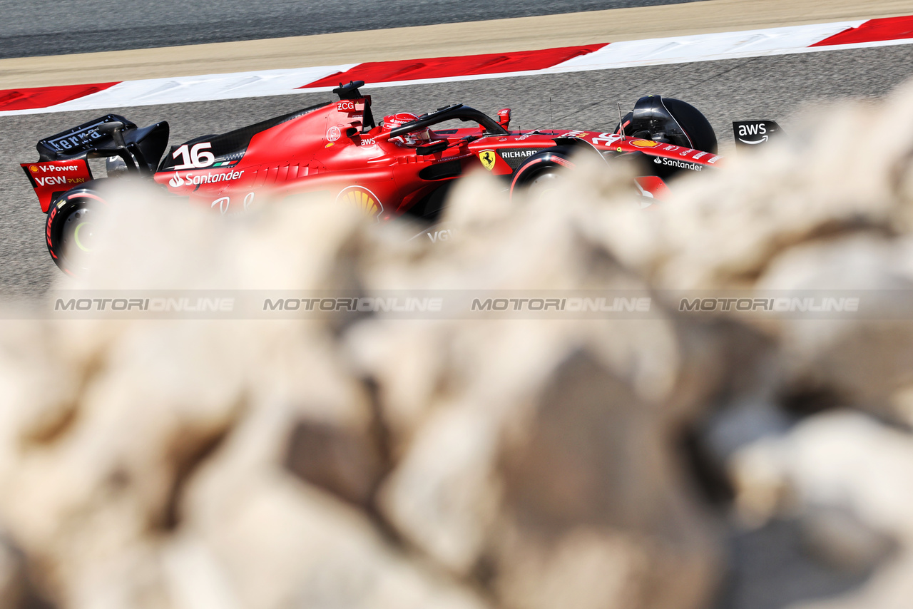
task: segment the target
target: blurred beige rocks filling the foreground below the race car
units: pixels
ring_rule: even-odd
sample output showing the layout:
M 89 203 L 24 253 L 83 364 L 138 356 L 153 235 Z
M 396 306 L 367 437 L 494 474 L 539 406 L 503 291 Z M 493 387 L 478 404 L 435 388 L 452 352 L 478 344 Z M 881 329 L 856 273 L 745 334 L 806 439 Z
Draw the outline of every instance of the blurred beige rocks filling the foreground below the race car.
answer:
M 0 609 L 908 607 L 910 321 L 668 295 L 910 289 L 911 105 L 828 110 L 649 211 L 621 169 L 539 200 L 471 175 L 434 246 L 132 190 L 117 255 L 62 287 L 652 290 L 652 314 L 4 322 Z M 864 122 L 892 137 L 834 146 Z

